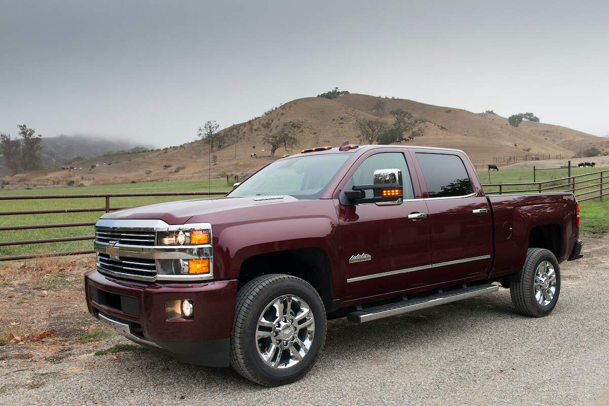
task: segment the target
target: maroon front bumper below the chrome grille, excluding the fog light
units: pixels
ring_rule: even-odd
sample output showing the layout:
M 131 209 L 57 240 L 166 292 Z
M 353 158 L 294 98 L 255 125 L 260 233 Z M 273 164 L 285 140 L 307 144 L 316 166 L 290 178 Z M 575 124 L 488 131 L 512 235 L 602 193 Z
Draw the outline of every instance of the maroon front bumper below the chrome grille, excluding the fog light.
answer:
M 85 275 L 89 311 L 130 340 L 181 362 L 228 366 L 236 280 L 144 283 Z M 166 301 L 192 300 L 192 320 L 167 320 Z

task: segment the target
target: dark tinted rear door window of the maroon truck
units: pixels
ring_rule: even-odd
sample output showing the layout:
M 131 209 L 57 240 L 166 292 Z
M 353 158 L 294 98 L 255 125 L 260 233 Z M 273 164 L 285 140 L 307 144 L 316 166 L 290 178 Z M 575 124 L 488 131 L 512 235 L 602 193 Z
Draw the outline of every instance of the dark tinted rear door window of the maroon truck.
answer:
M 474 193 L 460 157 L 450 154 L 416 155 L 430 198 L 449 198 Z

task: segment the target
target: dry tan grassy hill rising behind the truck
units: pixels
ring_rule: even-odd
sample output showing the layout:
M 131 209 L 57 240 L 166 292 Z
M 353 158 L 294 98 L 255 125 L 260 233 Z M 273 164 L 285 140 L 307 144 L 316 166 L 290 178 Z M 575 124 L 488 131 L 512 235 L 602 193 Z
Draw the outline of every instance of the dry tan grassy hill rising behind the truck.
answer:
M 384 101 L 386 106 L 377 114 L 373 105 L 378 100 Z M 331 100 L 319 97 L 293 100 L 262 117 L 223 129 L 235 137 L 225 148 L 211 154 L 216 156 L 211 173 L 213 176 L 248 174 L 283 154 L 297 153 L 301 148 L 337 146 L 347 139 L 356 143 L 358 134 L 354 123 L 357 119 L 378 118 L 390 124 L 393 120 L 389 111 L 396 108 L 409 111 L 422 120 L 424 135 L 415 138 L 413 144 L 459 148 L 465 150 L 474 163 L 492 162 L 494 156 L 534 153 L 562 155 L 566 159 L 590 146 L 609 152 L 609 139 L 562 126 L 525 121 L 518 128 L 512 128 L 505 117 L 496 114 L 479 114 L 413 100 L 348 94 Z M 294 129 L 298 145 L 292 151 L 280 148 L 272 158 L 269 146 L 264 145 L 262 139 L 284 125 Z M 234 142 L 234 139 L 238 141 Z M 255 158 L 250 157 L 253 152 L 257 154 Z M 73 180 L 77 184 L 105 184 L 206 179 L 209 158 L 209 146 L 195 141 L 150 153 L 93 157 L 73 164 L 82 170 L 35 171 L 13 176 L 9 181 L 65 184 Z

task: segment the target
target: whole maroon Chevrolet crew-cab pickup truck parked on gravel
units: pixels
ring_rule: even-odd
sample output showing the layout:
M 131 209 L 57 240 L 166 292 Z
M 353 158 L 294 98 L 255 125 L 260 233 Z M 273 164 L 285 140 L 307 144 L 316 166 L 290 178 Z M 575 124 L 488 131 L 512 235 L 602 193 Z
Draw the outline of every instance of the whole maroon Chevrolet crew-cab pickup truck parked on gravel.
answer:
M 571 193 L 487 197 L 463 151 L 367 145 L 283 157 L 222 199 L 108 213 L 91 314 L 182 362 L 262 385 L 307 373 L 326 320 L 354 323 L 509 288 L 549 314 L 582 256 Z

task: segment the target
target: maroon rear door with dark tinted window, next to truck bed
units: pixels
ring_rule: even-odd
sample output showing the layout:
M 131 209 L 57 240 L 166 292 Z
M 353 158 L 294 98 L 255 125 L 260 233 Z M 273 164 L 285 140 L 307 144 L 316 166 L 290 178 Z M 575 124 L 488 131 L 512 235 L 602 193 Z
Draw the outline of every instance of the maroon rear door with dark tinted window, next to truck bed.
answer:
M 493 253 L 492 217 L 469 159 L 459 151 L 418 149 L 410 154 L 429 210 L 432 280 L 486 274 Z

